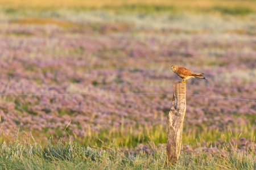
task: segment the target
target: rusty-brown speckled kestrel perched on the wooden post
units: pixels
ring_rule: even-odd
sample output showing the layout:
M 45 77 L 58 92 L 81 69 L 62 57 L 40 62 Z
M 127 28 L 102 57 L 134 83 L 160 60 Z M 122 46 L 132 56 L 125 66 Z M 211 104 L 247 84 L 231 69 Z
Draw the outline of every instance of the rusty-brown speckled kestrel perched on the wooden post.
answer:
M 202 76 L 202 74 L 204 74 L 204 73 L 194 73 L 193 71 L 190 71 L 186 67 L 172 65 L 171 69 L 180 78 L 182 78 L 181 83 L 185 83 L 186 79 L 190 79 L 190 78 L 194 78 L 194 77 L 197 77 L 197 78 L 200 78 L 200 79 L 207 79 L 207 78 Z M 184 81 L 183 81 L 183 79 L 184 79 Z

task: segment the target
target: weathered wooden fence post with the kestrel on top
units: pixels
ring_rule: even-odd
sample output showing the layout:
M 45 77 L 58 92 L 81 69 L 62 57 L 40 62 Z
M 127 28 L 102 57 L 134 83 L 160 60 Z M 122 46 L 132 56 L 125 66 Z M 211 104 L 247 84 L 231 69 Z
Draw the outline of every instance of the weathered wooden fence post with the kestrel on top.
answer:
M 174 83 L 172 108 L 167 117 L 167 164 L 175 164 L 180 156 L 182 130 L 186 112 L 186 84 Z

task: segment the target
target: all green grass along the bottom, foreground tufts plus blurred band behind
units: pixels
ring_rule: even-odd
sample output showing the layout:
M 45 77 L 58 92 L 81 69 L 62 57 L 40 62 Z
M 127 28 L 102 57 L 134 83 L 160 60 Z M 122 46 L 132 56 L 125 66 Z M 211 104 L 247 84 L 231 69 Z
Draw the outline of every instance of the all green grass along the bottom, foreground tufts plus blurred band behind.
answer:
M 255 169 L 256 157 L 253 150 L 241 152 L 241 144 L 229 143 L 232 138 L 251 138 L 254 141 L 254 130 L 250 124 L 236 125 L 224 130 L 198 127 L 184 129 L 183 143 L 198 148 L 196 154 L 182 152 L 176 167 L 165 164 L 166 148 L 159 143 L 166 143 L 167 129 L 155 125 L 153 129 L 125 126 L 120 129 L 101 130 L 100 132 L 86 129 L 87 137 L 77 137 L 69 131 L 55 129 L 59 137 L 48 135 L 48 141 L 36 142 L 38 139 L 30 133 L 0 133 L 0 168 L 3 169 Z M 185 128 L 185 127 L 184 127 Z M 47 133 L 47 130 L 38 134 Z M 32 133 L 33 134 L 33 133 Z M 10 138 L 14 137 L 13 140 Z M 52 140 L 53 137 L 53 140 Z M 35 138 L 35 139 L 34 139 Z M 73 139 L 72 139 L 73 138 Z M 217 139 L 225 141 L 212 154 L 200 150 L 203 141 L 211 148 L 211 142 Z M 133 149 L 143 143 L 152 151 L 128 154 L 120 148 L 125 146 Z M 254 145 L 254 142 L 251 142 Z M 157 147 L 158 146 L 158 147 Z M 214 146 L 214 145 L 213 145 Z M 245 148 L 246 150 L 246 148 Z

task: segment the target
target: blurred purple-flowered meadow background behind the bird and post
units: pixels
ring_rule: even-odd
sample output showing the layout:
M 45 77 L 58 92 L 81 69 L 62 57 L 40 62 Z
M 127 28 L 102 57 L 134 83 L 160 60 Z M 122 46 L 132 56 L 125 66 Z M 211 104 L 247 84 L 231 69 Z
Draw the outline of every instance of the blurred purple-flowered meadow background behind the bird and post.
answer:
M 2 141 L 166 143 L 172 94 L 97 94 L 171 93 L 171 65 L 207 77 L 187 80 L 184 145 L 254 139 L 255 101 L 207 96 L 256 100 L 256 1 L 0 0 L 0 22 Z

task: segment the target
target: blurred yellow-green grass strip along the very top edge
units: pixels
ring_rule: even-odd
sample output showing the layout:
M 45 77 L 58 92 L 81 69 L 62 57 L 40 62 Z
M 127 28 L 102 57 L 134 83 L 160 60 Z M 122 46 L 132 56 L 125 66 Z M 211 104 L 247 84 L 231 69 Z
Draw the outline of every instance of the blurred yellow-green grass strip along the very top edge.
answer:
M 72 0 L 46 0 L 46 1 L 21 1 L 21 0 L 0 0 L 0 6 L 5 12 L 12 14 L 17 10 L 56 10 L 68 8 L 77 11 L 81 10 L 114 10 L 127 12 L 162 12 L 162 11 L 191 11 L 191 12 L 221 12 L 222 14 L 245 15 L 256 11 L 256 1 L 221 1 L 221 0 L 196 0 L 196 1 L 118 1 L 118 0 L 97 0 L 97 1 L 72 1 Z

